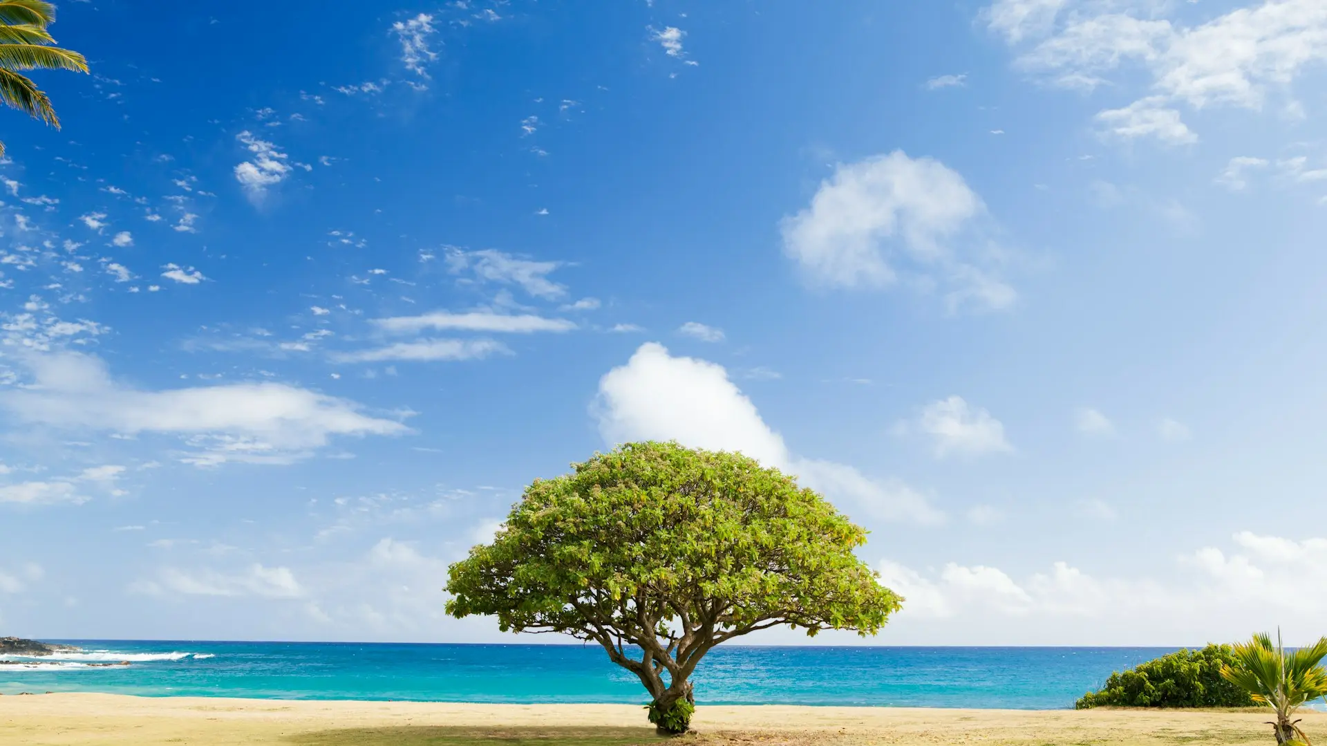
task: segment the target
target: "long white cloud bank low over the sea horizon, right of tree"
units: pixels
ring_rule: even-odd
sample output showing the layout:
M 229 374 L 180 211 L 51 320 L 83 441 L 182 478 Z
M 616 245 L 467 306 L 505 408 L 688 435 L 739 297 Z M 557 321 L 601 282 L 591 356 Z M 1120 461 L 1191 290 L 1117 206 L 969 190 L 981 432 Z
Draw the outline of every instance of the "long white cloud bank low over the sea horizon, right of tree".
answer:
M 914 569 L 882 560 L 881 583 L 902 595 L 893 634 L 942 644 L 957 631 L 973 644 L 1140 645 L 1237 640 L 1285 627 L 1291 640 L 1316 636 L 1327 597 L 1327 539 L 1241 531 L 1229 546 L 1182 551 L 1157 577 L 1096 576 L 1068 561 L 1014 575 L 998 567 L 946 563 Z M 971 636 L 970 620 L 983 620 Z

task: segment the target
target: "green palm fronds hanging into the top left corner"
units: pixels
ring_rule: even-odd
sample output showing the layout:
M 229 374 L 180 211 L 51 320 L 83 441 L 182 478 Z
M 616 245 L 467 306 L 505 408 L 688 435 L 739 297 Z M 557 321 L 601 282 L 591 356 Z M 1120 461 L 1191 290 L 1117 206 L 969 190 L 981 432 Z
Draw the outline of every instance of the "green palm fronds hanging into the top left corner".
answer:
M 77 52 L 52 46 L 46 27 L 56 21 L 56 7 L 45 0 L 0 0 L 0 101 L 60 129 L 50 98 L 16 70 L 53 69 L 88 72 Z M 4 143 L 0 142 L 0 155 Z

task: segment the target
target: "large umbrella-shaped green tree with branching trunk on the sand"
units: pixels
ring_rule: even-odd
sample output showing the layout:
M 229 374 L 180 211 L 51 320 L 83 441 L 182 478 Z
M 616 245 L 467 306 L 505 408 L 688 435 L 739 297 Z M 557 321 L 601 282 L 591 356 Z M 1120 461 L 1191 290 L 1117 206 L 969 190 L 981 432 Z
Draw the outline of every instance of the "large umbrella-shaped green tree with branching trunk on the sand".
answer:
M 661 733 L 690 727 L 690 676 L 715 645 L 778 625 L 874 634 L 900 608 L 853 555 L 867 532 L 751 458 L 644 442 L 572 466 L 451 565 L 447 612 L 598 642 Z

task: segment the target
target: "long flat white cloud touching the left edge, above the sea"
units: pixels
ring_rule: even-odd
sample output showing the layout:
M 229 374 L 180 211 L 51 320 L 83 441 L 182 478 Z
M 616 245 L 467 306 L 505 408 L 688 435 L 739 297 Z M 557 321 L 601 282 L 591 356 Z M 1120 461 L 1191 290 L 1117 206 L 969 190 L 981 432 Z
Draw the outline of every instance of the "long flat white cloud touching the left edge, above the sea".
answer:
M 184 438 L 183 461 L 289 463 L 336 435 L 397 435 L 407 427 L 354 402 L 275 382 L 142 390 L 110 378 L 81 353 L 23 358 L 31 381 L 0 392 L 12 422 L 125 435 Z

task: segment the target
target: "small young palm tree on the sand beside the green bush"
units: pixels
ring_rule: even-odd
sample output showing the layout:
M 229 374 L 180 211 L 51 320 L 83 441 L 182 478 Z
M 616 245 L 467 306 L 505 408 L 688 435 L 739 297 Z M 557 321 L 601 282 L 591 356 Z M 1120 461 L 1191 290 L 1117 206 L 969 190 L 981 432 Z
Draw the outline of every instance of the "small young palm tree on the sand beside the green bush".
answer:
M 1327 637 L 1287 653 L 1281 645 L 1281 632 L 1275 646 L 1267 633 L 1259 633 L 1234 645 L 1234 654 L 1238 665 L 1222 665 L 1221 676 L 1247 692 L 1254 702 L 1275 710 L 1277 719 L 1267 725 L 1275 730 L 1278 745 L 1307 745 L 1299 721 L 1290 717 L 1304 702 L 1327 697 L 1327 670 L 1319 665 L 1327 657 Z

